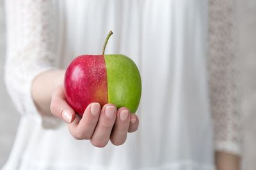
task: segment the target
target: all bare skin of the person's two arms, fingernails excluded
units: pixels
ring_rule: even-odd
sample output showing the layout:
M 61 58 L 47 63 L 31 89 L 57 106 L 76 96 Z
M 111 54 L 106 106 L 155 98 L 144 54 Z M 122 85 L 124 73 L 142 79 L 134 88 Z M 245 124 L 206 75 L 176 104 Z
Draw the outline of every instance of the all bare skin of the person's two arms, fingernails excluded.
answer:
M 127 132 L 135 132 L 138 129 L 139 119 L 137 115 L 129 114 L 126 120 L 121 120 L 120 112 L 128 109 L 119 108 L 116 110 L 113 104 L 104 105 L 96 115 L 92 115 L 90 111 L 92 104 L 89 104 L 84 111 L 83 117 L 76 115 L 65 100 L 63 90 L 64 74 L 64 70 L 46 71 L 36 76 L 35 80 L 33 80 L 31 93 L 36 108 L 41 115 L 54 116 L 65 121 L 61 112 L 67 109 L 72 113 L 72 121 L 68 123 L 70 134 L 75 139 L 88 139 L 96 147 L 106 146 L 109 140 L 113 145 L 122 145 L 126 140 Z M 112 118 L 105 117 L 106 106 L 115 107 L 115 113 Z M 113 127 L 114 123 L 115 127 Z M 239 162 L 240 158 L 236 155 L 225 152 L 216 152 L 215 154 L 215 163 L 218 170 L 239 170 Z

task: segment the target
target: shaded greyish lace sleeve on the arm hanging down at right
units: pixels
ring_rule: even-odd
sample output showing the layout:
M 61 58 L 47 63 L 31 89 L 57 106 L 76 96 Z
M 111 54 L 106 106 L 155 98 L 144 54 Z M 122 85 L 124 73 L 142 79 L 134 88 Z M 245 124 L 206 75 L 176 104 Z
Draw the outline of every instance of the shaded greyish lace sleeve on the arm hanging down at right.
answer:
M 209 1 L 209 90 L 215 149 L 241 154 L 241 103 L 236 48 L 236 8 L 231 0 Z

